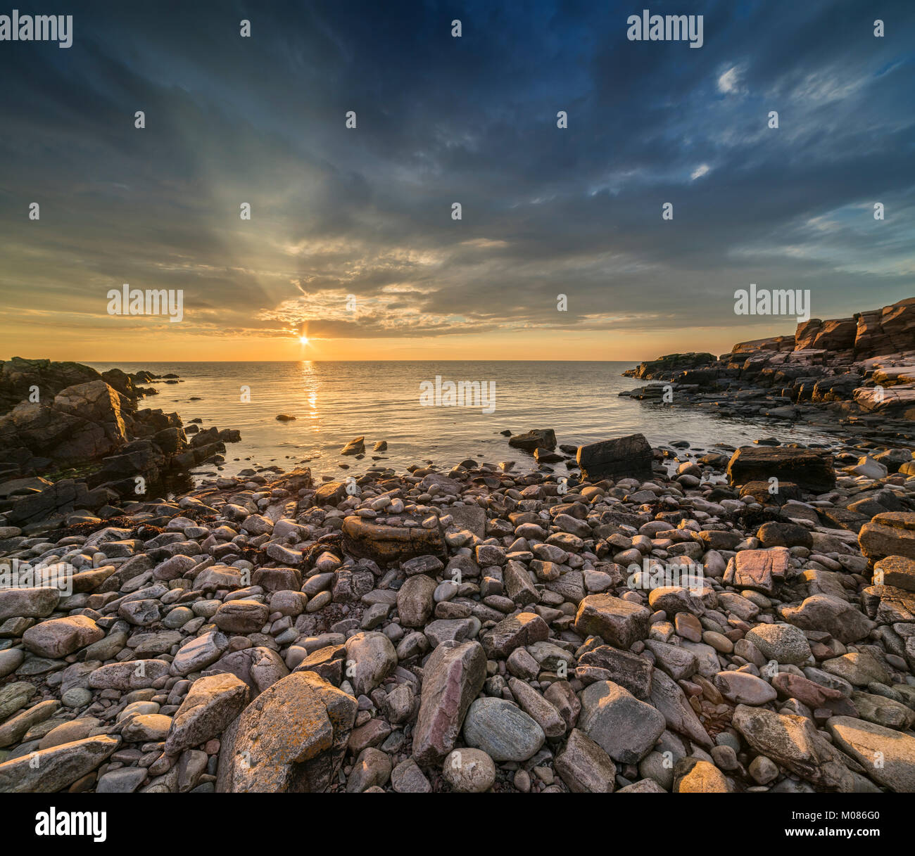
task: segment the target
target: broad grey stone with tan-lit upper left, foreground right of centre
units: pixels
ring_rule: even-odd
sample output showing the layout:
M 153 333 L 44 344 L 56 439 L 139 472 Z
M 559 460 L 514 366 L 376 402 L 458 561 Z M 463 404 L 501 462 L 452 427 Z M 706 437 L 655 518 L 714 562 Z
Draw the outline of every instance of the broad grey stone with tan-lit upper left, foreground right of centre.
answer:
M 666 725 L 661 712 L 609 680 L 597 681 L 581 693 L 578 722 L 591 740 L 623 764 L 638 764 Z

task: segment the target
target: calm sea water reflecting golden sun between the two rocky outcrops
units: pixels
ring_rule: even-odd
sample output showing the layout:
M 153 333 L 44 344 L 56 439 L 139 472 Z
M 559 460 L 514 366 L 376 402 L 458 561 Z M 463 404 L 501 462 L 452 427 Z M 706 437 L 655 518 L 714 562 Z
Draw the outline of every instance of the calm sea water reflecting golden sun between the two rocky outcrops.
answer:
M 827 439 L 810 429 L 721 419 L 702 411 L 669 408 L 619 398 L 640 381 L 620 377 L 623 362 L 169 362 L 93 363 L 95 369 L 148 369 L 178 374 L 181 382 L 151 384 L 159 394 L 147 407 L 178 412 L 201 427 L 237 428 L 242 442 L 227 444 L 222 472 L 234 475 L 252 465 L 290 468 L 310 458 L 319 475 L 339 476 L 339 463 L 361 472 L 371 455 L 402 471 L 433 461 L 453 465 L 516 461 L 516 471 L 532 469 L 533 457 L 513 449 L 501 431 L 521 433 L 553 428 L 561 444 L 583 444 L 629 433 L 644 433 L 652 445 L 687 440 L 708 448 L 716 442 L 751 443 L 762 436 L 780 440 Z M 495 410 L 482 407 L 421 406 L 420 384 L 443 380 L 495 382 Z M 242 401 L 242 387 L 251 401 Z M 295 416 L 278 422 L 277 413 Z M 353 437 L 365 436 L 361 461 L 339 455 Z M 386 440 L 386 452 L 373 453 Z M 564 473 L 563 465 L 556 465 Z M 201 467 L 213 471 L 213 466 Z

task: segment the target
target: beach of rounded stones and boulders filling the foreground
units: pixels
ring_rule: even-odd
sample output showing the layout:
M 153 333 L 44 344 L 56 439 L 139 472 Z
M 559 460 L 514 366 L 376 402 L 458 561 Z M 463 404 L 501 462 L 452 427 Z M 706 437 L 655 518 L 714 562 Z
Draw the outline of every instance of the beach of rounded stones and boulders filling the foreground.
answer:
M 6 510 L 0 792 L 915 790 L 915 463 L 858 445 Z

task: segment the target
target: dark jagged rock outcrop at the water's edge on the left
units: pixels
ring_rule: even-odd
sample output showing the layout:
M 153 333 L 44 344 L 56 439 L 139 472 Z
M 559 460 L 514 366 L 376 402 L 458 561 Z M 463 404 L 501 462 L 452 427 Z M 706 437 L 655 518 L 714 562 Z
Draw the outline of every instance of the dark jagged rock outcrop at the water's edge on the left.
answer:
M 178 375 L 100 374 L 89 366 L 0 361 L 0 511 L 25 532 L 111 518 L 124 499 L 189 487 L 191 467 L 220 462 L 239 432 L 201 430 L 178 413 L 140 408 L 148 383 Z M 75 513 L 79 509 L 79 514 Z

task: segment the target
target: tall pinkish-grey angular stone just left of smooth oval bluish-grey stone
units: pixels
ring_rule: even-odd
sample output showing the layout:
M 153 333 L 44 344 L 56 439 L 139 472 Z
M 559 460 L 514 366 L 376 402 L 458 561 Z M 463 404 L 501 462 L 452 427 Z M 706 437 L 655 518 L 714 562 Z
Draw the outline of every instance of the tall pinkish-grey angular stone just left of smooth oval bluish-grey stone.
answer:
M 455 746 L 470 703 L 486 679 L 486 654 L 479 642 L 443 642 L 423 669 L 423 689 L 413 732 L 413 755 L 431 765 Z

